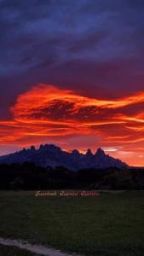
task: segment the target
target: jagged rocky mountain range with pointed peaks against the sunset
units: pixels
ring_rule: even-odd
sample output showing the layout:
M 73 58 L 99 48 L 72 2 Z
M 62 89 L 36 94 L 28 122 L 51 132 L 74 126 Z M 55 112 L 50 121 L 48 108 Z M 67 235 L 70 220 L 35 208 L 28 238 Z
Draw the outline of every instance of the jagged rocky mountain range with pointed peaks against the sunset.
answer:
M 63 151 L 54 144 L 40 145 L 39 148 L 23 148 L 19 152 L 0 156 L 0 164 L 32 162 L 37 166 L 47 167 L 64 166 L 72 171 L 78 171 L 84 168 L 105 169 L 117 167 L 123 169 L 128 167 L 124 162 L 114 159 L 112 156 L 98 148 L 95 154 L 88 149 L 85 154 L 79 153 L 77 149 L 71 153 Z

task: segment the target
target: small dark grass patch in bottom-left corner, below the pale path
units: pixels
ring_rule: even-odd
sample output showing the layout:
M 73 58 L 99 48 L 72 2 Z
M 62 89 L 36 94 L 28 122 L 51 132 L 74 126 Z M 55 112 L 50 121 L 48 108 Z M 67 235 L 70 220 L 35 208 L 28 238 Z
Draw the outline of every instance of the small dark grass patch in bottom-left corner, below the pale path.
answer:
M 29 253 L 16 247 L 7 247 L 0 245 L 0 255 L 2 256 L 37 256 L 35 253 Z

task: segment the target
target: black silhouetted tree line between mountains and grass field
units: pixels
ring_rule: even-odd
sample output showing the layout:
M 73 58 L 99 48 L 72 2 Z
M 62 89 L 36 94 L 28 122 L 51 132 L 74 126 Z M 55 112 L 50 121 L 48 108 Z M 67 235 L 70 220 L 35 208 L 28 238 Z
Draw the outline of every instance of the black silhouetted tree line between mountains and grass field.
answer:
M 0 189 L 144 189 L 144 168 L 84 169 L 43 168 L 32 163 L 0 165 Z

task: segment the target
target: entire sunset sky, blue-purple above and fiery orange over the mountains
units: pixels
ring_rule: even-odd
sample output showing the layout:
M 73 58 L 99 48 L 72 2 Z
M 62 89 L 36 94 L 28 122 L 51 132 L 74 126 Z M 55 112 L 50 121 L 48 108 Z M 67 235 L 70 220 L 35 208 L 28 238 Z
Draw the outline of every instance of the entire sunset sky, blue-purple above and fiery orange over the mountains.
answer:
M 144 1 L 0 0 L 0 154 L 55 143 L 144 166 Z

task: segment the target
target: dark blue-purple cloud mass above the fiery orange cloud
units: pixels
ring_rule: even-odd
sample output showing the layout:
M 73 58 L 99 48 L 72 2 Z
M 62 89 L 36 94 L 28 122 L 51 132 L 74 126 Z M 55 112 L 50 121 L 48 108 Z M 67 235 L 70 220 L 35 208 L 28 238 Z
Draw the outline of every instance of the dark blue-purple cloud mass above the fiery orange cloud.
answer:
M 142 90 L 143 21 L 141 0 L 1 0 L 1 118 L 40 82 L 89 96 Z

